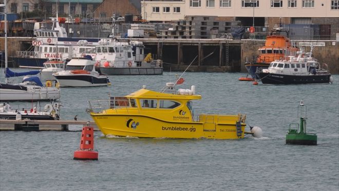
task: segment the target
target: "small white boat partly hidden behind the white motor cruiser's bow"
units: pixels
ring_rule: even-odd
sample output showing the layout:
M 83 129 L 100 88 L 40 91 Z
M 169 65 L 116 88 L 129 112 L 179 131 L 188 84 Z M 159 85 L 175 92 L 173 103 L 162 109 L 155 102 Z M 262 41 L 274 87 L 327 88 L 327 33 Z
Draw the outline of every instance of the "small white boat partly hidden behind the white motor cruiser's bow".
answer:
M 56 72 L 61 72 L 65 68 L 65 61 L 63 60 L 49 60 L 43 63 L 44 68 L 40 70 L 40 78 L 43 80 L 56 80 L 52 75 Z

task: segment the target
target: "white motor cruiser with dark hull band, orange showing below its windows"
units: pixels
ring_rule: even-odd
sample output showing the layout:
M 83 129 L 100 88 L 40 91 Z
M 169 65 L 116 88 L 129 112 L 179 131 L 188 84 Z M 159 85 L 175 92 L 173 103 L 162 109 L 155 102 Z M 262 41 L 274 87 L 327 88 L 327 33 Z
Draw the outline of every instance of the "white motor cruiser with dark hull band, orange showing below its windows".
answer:
M 100 75 L 94 67 L 95 62 L 90 56 L 81 58 L 72 58 L 66 65 L 64 71 L 54 73 L 60 86 L 102 86 L 110 85 L 107 76 Z

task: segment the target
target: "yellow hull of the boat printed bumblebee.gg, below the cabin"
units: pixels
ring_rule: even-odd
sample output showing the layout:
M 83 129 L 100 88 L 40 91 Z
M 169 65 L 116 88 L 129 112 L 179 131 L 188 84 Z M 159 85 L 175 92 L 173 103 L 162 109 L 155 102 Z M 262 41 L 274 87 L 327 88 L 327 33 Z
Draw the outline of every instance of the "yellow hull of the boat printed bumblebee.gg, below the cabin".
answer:
M 238 139 L 244 137 L 246 124 L 236 125 L 238 116 L 229 116 L 223 123 L 165 121 L 143 115 L 112 115 L 91 113 L 105 135 L 154 138 Z

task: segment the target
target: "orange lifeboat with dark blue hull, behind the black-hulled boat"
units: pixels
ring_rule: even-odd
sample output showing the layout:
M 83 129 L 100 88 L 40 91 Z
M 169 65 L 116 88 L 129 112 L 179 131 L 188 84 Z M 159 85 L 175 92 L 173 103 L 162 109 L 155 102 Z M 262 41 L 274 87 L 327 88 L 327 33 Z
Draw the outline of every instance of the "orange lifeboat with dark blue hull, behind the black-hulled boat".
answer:
M 281 32 L 286 32 L 287 37 L 283 36 Z M 296 56 L 296 52 L 299 49 L 291 43 L 288 36 L 288 31 L 281 31 L 280 29 L 271 32 L 270 36 L 266 37 L 265 46 L 258 49 L 259 56 L 254 61 L 244 64 L 253 79 L 257 79 L 255 72 L 259 68 L 268 68 L 272 61 L 278 59 L 288 60 L 289 56 Z

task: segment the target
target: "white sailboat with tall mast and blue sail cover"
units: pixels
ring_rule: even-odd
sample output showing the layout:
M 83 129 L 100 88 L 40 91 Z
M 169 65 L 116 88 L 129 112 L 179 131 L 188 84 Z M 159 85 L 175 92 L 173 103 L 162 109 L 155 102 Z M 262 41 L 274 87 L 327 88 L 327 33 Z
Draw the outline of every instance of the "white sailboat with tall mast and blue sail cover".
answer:
M 6 8 L 5 8 L 6 10 Z M 5 11 L 5 83 L 0 83 L 0 101 L 43 101 L 60 98 L 60 89 L 52 86 L 51 81 L 42 84 L 36 76 L 25 77 L 22 83 L 8 83 L 9 77 L 23 76 L 27 73 L 13 73 L 7 60 L 7 13 Z M 30 74 L 30 73 L 28 73 Z

